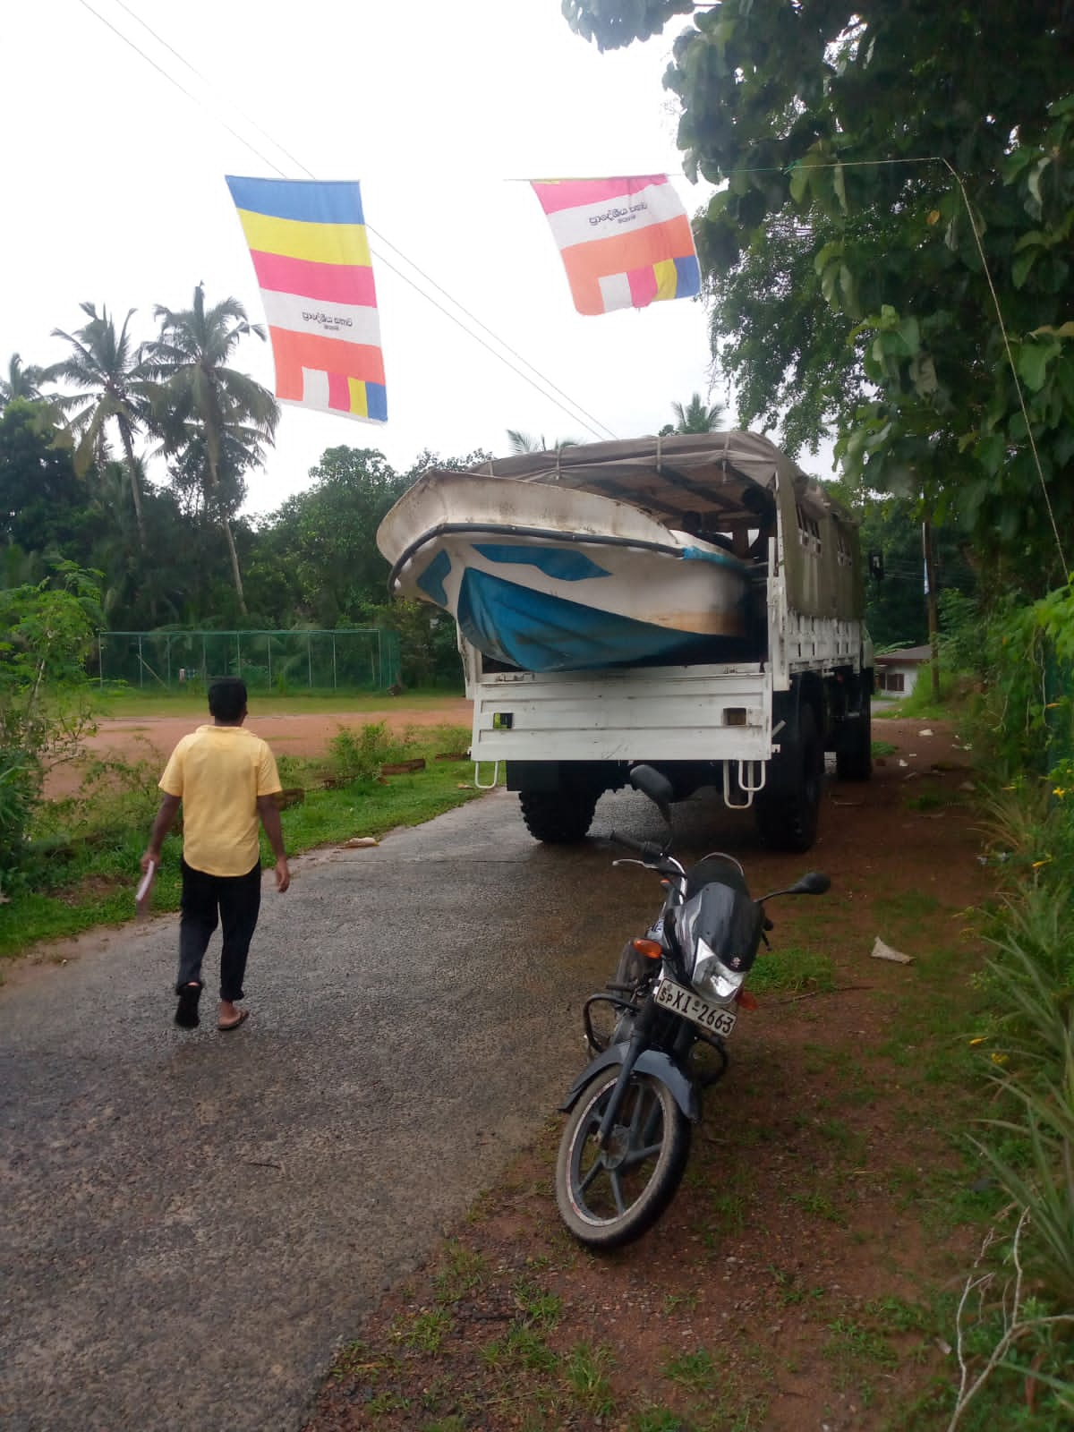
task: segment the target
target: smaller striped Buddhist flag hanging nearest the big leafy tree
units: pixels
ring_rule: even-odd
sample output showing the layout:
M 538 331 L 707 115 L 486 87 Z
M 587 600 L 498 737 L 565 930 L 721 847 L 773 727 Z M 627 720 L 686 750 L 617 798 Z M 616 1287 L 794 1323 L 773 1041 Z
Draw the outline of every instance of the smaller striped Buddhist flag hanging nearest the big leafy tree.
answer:
M 580 314 L 700 294 L 690 221 L 667 175 L 531 183 Z

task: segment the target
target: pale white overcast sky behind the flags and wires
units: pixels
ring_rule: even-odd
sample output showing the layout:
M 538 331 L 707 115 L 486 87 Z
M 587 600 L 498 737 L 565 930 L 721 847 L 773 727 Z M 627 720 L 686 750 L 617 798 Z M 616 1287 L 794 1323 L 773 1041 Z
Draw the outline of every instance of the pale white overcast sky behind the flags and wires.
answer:
M 367 222 L 382 235 L 371 233 L 371 245 L 390 422 L 285 405 L 266 471 L 251 477 L 248 510 L 269 511 L 306 485 L 308 470 L 337 444 L 379 448 L 407 468 L 427 447 L 503 453 L 508 427 L 548 440 L 604 435 L 394 274 L 385 261 L 475 326 L 385 239 L 617 437 L 654 432 L 670 421 L 672 401 L 707 395 L 703 306 L 577 315 L 537 199 L 514 180 L 679 172 L 673 182 L 693 212 L 705 193 L 682 178 L 660 83 L 680 27 L 600 54 L 567 27 L 560 0 L 6 7 L 0 359 L 13 351 L 24 362 L 59 358 L 63 345 L 49 334 L 79 326 L 82 299 L 119 318 L 136 308 L 135 334 L 149 337 L 153 304 L 189 306 L 199 281 L 209 302 L 233 294 L 261 321 L 223 176 L 271 178 L 278 165 L 305 178 L 298 160 L 318 179 L 359 179 Z M 251 339 L 238 365 L 272 387 L 268 344 Z

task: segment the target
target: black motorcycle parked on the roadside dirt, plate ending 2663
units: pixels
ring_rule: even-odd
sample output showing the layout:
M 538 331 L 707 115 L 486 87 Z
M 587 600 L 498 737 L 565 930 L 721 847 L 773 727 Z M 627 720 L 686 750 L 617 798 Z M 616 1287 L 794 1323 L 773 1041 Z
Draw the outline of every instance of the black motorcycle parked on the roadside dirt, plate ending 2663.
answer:
M 700 1091 L 727 1070 L 726 1040 L 739 1008 L 756 1001 L 745 982 L 772 921 L 765 901 L 776 895 L 823 895 L 826 875 L 813 871 L 788 889 L 753 899 L 732 855 L 713 852 L 689 871 L 672 846 L 673 788 L 652 766 L 634 766 L 630 783 L 663 815 L 663 846 L 610 833 L 660 875 L 663 908 L 644 938 L 627 942 L 616 978 L 583 1010 L 593 1055 L 560 1106 L 569 1116 L 556 1161 L 556 1201 L 579 1242 L 614 1249 L 640 1237 L 667 1209 L 686 1170 Z M 610 1005 L 604 1038 L 594 1010 Z M 604 1011 L 607 1015 L 607 1010 Z M 715 1055 L 705 1068 L 702 1051 Z

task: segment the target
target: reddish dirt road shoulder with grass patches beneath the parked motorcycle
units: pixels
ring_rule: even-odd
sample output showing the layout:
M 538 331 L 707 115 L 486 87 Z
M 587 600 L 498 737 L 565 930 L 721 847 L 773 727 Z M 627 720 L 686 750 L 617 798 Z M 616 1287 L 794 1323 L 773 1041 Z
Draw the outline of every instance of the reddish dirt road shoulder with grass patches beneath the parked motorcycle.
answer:
M 811 856 L 739 836 L 753 889 L 831 874 L 825 901 L 778 902 L 765 958 L 822 951 L 835 990 L 776 990 L 740 1017 L 657 1229 L 611 1254 L 573 1243 L 553 1116 L 428 1270 L 355 1329 L 306 1432 L 945 1425 L 916 1399 L 942 1402 L 935 1388 L 957 1380 L 937 1299 L 961 1289 L 979 1233 L 951 1140 L 974 1110 L 952 1110 L 935 1061 L 968 1057 L 979 948 L 965 911 L 991 889 L 972 758 L 935 723 L 874 735 L 895 755 L 868 785 L 831 782 Z M 876 935 L 915 962 L 871 959 Z

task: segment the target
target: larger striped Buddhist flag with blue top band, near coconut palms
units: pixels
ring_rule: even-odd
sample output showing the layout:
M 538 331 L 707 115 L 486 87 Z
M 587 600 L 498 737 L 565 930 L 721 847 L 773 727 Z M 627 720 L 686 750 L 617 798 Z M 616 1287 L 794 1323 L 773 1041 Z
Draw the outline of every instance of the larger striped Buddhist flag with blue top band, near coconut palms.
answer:
M 387 422 L 359 186 L 228 175 L 228 188 L 261 285 L 276 397 Z

